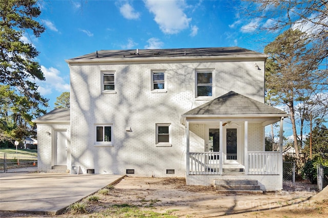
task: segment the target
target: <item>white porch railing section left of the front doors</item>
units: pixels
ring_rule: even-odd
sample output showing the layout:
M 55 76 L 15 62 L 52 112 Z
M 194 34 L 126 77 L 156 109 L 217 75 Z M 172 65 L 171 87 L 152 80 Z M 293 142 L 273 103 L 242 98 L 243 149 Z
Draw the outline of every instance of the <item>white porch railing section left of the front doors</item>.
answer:
M 189 175 L 220 175 L 220 152 L 190 152 Z

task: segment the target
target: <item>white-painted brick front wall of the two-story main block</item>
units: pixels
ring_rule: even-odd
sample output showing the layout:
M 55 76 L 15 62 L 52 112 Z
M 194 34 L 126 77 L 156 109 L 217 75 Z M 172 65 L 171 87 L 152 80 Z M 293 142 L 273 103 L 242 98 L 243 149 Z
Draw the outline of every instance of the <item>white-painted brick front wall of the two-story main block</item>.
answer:
M 207 101 L 195 99 L 195 69 L 214 69 L 213 99 L 231 90 L 264 101 L 264 63 L 255 61 L 198 63 L 126 63 L 71 65 L 71 158 L 84 173 L 125 174 L 134 169 L 135 176 L 185 176 L 185 127 L 180 115 Z M 165 93 L 151 90 L 151 70 L 166 69 Z M 116 93 L 101 92 L 101 72 L 115 71 Z M 157 147 L 156 124 L 171 124 L 170 147 Z M 113 145 L 95 146 L 95 124 L 110 124 Z M 127 132 L 127 129 L 132 131 Z M 203 125 L 191 125 L 194 139 L 191 148 L 203 143 Z

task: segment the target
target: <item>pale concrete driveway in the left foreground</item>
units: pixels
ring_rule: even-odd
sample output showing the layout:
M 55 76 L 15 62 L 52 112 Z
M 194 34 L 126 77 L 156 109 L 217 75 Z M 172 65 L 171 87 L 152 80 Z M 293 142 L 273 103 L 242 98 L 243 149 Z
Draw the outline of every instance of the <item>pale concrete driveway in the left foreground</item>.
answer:
M 1 211 L 57 214 L 124 175 L 0 173 Z

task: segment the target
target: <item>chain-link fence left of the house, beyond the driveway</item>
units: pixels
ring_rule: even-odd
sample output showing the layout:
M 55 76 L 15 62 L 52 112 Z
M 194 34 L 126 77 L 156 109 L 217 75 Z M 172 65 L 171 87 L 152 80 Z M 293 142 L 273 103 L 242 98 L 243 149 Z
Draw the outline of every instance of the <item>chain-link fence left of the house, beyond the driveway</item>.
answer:
M 31 154 L 12 154 L 12 153 L 0 153 L 0 172 L 15 173 L 30 171 L 35 167 L 37 171 L 37 156 L 31 156 Z

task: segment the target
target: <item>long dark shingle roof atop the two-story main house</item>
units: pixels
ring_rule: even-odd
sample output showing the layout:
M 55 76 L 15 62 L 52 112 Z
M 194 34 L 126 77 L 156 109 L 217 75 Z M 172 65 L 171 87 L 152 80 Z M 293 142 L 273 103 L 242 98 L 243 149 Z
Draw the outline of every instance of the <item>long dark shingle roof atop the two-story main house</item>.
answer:
M 267 58 L 262 53 L 254 52 L 241 47 L 203 47 L 189 49 L 146 49 L 146 50 L 101 50 L 87 55 L 79 56 L 67 60 L 71 61 L 87 61 L 101 59 L 133 59 L 133 58 L 154 58 L 154 57 L 258 57 Z

